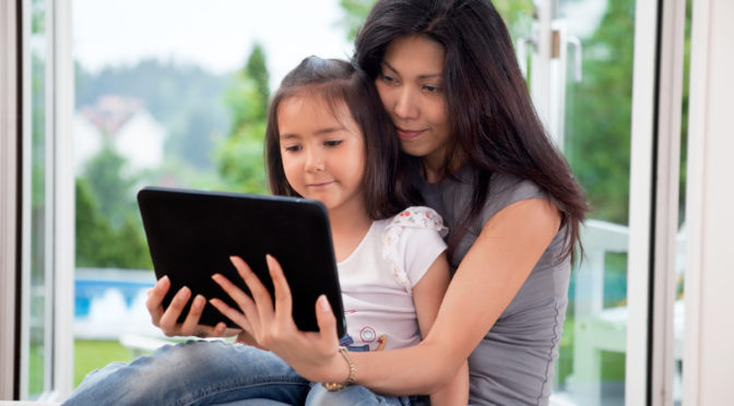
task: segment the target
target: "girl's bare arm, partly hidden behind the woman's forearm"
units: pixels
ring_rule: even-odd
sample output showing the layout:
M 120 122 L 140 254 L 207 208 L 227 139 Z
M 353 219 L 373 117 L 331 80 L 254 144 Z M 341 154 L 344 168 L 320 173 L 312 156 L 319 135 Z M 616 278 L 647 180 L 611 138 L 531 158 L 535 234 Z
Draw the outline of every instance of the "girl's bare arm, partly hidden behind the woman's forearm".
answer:
M 418 317 L 418 326 L 422 336 L 427 336 L 430 331 L 441 299 L 449 287 L 449 262 L 446 252 L 441 253 L 421 280 L 413 287 L 413 302 Z M 469 367 L 464 361 L 453 379 L 438 391 L 430 394 L 433 406 L 465 405 L 469 403 Z

